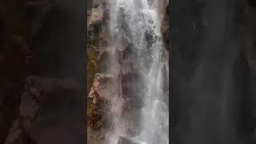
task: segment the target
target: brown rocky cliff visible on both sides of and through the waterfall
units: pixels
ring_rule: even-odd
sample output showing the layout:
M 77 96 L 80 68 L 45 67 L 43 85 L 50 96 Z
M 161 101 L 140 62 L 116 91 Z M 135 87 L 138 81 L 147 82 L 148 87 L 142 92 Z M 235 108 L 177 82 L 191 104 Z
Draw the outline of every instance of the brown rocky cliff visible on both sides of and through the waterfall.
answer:
M 167 1 L 159 1 L 158 10 L 160 10 L 160 18 L 162 19 L 162 35 L 165 42 L 166 50 L 170 50 L 170 41 L 169 41 L 169 4 Z M 94 0 L 91 5 L 91 10 L 88 12 L 87 17 L 87 54 L 88 54 L 88 75 L 87 75 L 87 90 L 89 91 L 87 97 L 87 118 L 88 118 L 88 142 L 100 142 L 104 139 L 104 131 L 109 130 L 110 128 L 110 99 L 116 93 L 115 90 L 118 86 L 115 86 L 114 76 L 110 74 L 110 65 L 108 61 L 113 58 L 113 55 L 107 50 L 107 47 L 110 46 L 111 37 L 110 37 L 110 6 L 108 2 L 104 0 Z M 122 43 L 124 45 L 124 43 Z M 130 57 L 132 52 L 129 49 L 130 45 L 127 45 L 127 50 L 123 50 L 123 57 Z M 129 50 L 128 50 L 129 49 Z M 121 53 L 120 53 L 121 54 Z M 166 51 L 168 55 L 168 52 Z M 119 61 L 119 60 L 118 60 Z M 120 60 L 121 62 L 121 60 Z M 125 63 L 121 65 L 123 70 L 129 68 Z M 122 68 L 121 68 L 122 69 Z M 129 70 L 128 70 L 129 71 Z M 126 73 L 126 72 L 124 72 Z M 139 81 L 139 75 L 134 72 L 128 72 L 122 76 L 122 90 L 126 90 L 127 94 L 132 93 L 128 83 L 134 79 L 134 81 Z M 168 79 L 168 78 L 166 78 Z M 168 83 L 168 82 L 167 82 Z M 168 84 L 166 85 L 168 86 Z M 137 87 L 137 93 L 142 86 Z M 125 92 L 124 92 L 125 94 Z M 128 94 L 129 95 L 129 94 Z M 122 109 L 124 114 L 127 114 L 127 117 L 138 118 L 138 115 L 129 115 L 131 114 L 133 107 L 140 106 L 141 102 L 139 97 L 131 98 L 130 101 L 124 101 L 124 106 Z M 120 102 L 123 102 L 120 100 Z M 121 103 L 120 103 L 121 105 Z M 127 107 L 126 107 L 127 106 Z M 135 109 L 134 109 L 135 110 Z M 134 113 L 136 114 L 136 113 Z M 136 121 L 136 120 L 134 120 Z M 133 124 L 137 126 L 136 123 Z M 135 129 L 134 129 L 135 130 Z M 130 130 L 130 134 L 136 134 L 138 132 Z M 98 136 L 97 136 L 98 135 Z M 102 138 L 102 139 L 100 139 Z

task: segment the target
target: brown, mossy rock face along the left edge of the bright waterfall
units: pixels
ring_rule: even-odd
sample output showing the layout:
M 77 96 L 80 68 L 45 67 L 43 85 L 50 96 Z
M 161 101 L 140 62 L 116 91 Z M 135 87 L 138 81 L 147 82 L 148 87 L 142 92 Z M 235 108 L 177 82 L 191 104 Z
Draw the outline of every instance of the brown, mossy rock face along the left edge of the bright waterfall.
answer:
M 87 52 L 89 57 L 89 65 L 87 67 L 87 130 L 90 130 L 92 134 L 98 133 L 102 128 L 107 127 L 106 115 L 103 114 L 107 114 L 106 111 L 109 111 L 107 108 L 108 102 L 112 98 L 114 88 L 110 82 L 113 77 L 108 74 L 110 71 L 108 60 L 111 54 L 105 49 L 108 45 L 108 40 L 106 39 L 108 34 L 104 26 L 107 25 L 108 9 L 105 1 L 102 0 L 93 0 L 90 7 L 90 14 L 87 15 Z M 98 143 L 100 141 L 98 137 L 91 137 L 89 143 Z

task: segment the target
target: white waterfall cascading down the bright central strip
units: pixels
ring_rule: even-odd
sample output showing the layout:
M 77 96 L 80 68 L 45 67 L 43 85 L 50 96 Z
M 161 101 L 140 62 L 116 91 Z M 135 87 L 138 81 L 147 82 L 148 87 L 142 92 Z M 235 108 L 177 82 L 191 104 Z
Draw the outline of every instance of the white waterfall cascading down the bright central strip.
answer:
M 110 49 L 114 54 L 110 65 L 119 87 L 112 100 L 114 130 L 109 144 L 118 144 L 120 136 L 135 143 L 168 144 L 169 91 L 164 87 L 169 67 L 160 30 L 159 3 L 157 0 L 109 2 L 113 37 Z M 126 99 L 135 100 L 127 100 L 130 110 L 123 110 Z

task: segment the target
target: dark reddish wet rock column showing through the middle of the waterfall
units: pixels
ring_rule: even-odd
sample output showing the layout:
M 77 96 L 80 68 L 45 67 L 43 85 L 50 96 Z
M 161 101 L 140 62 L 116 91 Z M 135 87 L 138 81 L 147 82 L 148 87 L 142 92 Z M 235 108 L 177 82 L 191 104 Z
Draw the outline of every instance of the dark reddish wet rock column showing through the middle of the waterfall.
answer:
M 140 115 L 145 92 L 144 79 L 138 73 L 139 54 L 134 45 L 129 44 L 117 54 L 121 66 L 120 86 L 124 99 L 122 104 L 122 122 L 126 125 L 126 134 L 134 137 L 140 132 Z M 137 65 L 137 66 L 136 66 Z

